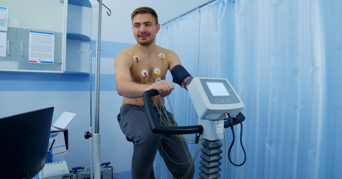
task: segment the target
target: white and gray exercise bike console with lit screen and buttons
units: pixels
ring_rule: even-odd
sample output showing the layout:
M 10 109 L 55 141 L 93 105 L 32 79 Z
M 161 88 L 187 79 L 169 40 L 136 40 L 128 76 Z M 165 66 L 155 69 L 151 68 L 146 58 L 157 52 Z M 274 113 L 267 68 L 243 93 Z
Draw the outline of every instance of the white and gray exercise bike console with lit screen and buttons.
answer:
M 221 120 L 226 118 L 224 113 L 235 117 L 245 107 L 225 78 L 195 77 L 187 89 L 202 120 Z

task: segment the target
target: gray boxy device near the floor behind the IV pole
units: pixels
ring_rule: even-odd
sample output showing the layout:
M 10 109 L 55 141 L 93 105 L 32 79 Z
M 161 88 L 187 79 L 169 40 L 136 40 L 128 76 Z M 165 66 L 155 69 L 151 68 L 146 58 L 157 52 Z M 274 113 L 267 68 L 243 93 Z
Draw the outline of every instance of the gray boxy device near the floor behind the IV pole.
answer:
M 112 179 L 113 167 L 109 166 L 110 162 L 105 162 L 100 164 L 101 179 Z M 75 171 L 71 176 L 71 179 L 90 179 L 90 174 L 92 174 L 91 166 L 86 167 L 74 167 Z M 77 174 L 76 174 L 77 173 Z M 71 174 L 71 173 L 70 173 Z M 93 175 L 93 174 L 92 174 Z

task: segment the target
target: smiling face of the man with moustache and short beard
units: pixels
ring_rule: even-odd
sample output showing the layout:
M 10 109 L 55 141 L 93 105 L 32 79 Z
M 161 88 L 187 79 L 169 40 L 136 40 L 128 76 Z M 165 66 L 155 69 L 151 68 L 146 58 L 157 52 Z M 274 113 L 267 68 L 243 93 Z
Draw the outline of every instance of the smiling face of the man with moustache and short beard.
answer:
M 160 29 L 160 25 L 156 25 L 154 17 L 149 13 L 137 14 L 134 16 L 132 22 L 136 41 L 144 46 L 151 45 Z

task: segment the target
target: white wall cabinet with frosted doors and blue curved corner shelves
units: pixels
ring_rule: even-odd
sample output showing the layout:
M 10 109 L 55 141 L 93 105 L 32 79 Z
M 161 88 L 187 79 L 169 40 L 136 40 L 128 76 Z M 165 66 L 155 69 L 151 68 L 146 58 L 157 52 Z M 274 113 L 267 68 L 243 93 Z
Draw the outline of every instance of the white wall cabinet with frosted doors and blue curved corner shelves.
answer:
M 88 0 L 11 0 L 8 7 L 6 57 L 0 72 L 89 74 L 91 3 Z M 29 31 L 54 33 L 53 64 L 29 63 Z M 8 51 L 8 53 L 7 53 Z

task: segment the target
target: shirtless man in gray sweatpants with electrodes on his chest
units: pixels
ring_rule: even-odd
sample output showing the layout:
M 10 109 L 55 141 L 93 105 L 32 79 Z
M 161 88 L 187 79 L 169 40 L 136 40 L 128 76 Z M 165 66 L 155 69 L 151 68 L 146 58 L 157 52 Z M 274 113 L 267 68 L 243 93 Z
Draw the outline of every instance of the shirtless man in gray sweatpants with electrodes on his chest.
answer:
M 152 8 L 137 8 L 133 11 L 131 19 L 137 44 L 124 49 L 116 56 L 115 79 L 118 94 L 123 96 L 118 115 L 120 128 L 127 137 L 133 140 L 134 145 L 132 179 L 148 178 L 157 149 L 174 178 L 192 179 L 195 168 L 193 165 L 189 170 L 193 161 L 190 160 L 192 156 L 187 144 L 175 135 L 152 133 L 147 122 L 142 97 L 147 90 L 157 90 L 161 100 L 159 96 L 156 96 L 155 102 L 152 101 L 152 104 L 158 117 L 158 123 L 166 125 L 162 120 L 168 116 L 172 125 L 176 125 L 172 114 L 161 107 L 165 103 L 164 97 L 169 95 L 174 87 L 167 80 L 156 82 L 156 79 L 158 77 L 165 79 L 167 70 L 171 72 L 176 65 L 180 67 L 181 61 L 172 50 L 156 45 L 155 38 L 160 24 L 158 24 L 158 16 Z M 165 59 L 162 60 L 159 57 L 160 53 L 165 54 Z M 137 56 L 139 62 L 133 56 Z M 158 75 L 154 73 L 156 68 L 160 69 Z M 141 75 L 143 70 L 147 71 L 146 78 Z M 193 77 L 187 76 L 178 85 L 182 84 L 182 87 L 186 88 L 192 79 Z M 161 114 L 157 107 L 161 107 Z M 190 162 L 188 162 L 189 160 Z

